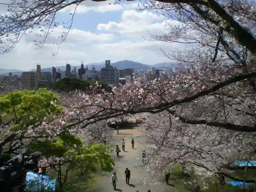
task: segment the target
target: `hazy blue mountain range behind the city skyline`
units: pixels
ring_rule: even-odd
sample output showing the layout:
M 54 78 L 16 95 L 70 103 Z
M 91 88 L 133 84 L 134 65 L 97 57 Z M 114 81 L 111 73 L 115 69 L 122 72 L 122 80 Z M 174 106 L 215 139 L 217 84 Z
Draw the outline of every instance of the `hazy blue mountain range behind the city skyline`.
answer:
M 101 67 L 105 66 L 104 62 L 88 63 L 88 64 L 84 64 L 84 68 L 86 68 L 88 66 L 88 69 L 91 70 L 92 65 L 94 65 L 95 69 L 98 71 L 101 69 Z M 176 62 L 161 62 L 161 63 L 157 63 L 155 65 L 146 65 L 146 64 L 131 61 L 131 60 L 122 60 L 122 61 L 113 62 L 113 63 L 111 63 L 111 65 L 116 66 L 116 68 L 119 70 L 132 68 L 135 71 L 137 71 L 137 70 L 147 71 L 147 70 L 150 70 L 151 67 L 156 67 L 159 70 L 163 70 L 166 67 L 175 68 L 175 67 L 177 67 L 178 64 Z M 74 67 L 76 67 L 76 70 L 78 70 L 80 68 L 80 66 L 71 66 L 71 70 L 73 70 Z M 66 66 L 56 66 L 56 69 L 65 71 Z M 30 71 L 36 71 L 36 69 L 32 69 Z M 52 67 L 42 68 L 41 71 L 42 72 L 52 72 Z M 18 75 L 18 76 L 21 76 L 23 73 L 23 71 L 15 70 L 15 69 L 0 69 L 0 75 L 8 75 L 9 72 L 12 72 L 12 75 Z

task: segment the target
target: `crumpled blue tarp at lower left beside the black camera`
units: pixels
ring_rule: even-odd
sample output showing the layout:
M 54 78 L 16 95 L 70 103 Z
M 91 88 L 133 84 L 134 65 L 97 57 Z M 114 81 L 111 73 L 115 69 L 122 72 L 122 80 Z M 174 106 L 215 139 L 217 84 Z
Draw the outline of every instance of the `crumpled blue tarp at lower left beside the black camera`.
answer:
M 42 188 L 55 191 L 56 179 L 50 179 L 47 175 L 28 172 L 26 181 L 29 191 L 38 191 Z

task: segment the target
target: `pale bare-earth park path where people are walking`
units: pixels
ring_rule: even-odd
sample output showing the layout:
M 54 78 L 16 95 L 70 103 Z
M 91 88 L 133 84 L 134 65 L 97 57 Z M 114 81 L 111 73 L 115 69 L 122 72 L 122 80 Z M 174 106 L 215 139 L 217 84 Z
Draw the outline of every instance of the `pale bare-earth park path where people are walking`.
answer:
M 135 149 L 132 148 L 131 140 L 135 140 Z M 115 145 L 119 145 L 121 148 L 121 140 L 125 140 L 125 151 L 120 152 L 121 158 L 117 158 L 116 154 L 113 153 L 113 157 L 116 160 L 116 166 L 113 172 L 116 172 L 118 177 L 117 189 L 114 190 L 111 184 L 112 173 L 105 174 L 99 181 L 99 189 L 97 192 L 110 192 L 110 191 L 123 191 L 123 192 L 147 192 L 150 189 L 152 192 L 163 192 L 167 189 L 173 189 L 171 186 L 165 183 L 161 184 L 145 184 L 144 177 L 146 174 L 145 168 L 138 168 L 138 164 L 142 163 L 141 153 L 144 150 L 145 137 L 140 134 L 137 129 L 134 130 L 120 130 L 119 134 L 114 136 L 111 146 L 115 149 Z M 129 168 L 131 170 L 130 185 L 125 183 L 124 170 Z M 170 190 L 168 190 L 170 191 Z

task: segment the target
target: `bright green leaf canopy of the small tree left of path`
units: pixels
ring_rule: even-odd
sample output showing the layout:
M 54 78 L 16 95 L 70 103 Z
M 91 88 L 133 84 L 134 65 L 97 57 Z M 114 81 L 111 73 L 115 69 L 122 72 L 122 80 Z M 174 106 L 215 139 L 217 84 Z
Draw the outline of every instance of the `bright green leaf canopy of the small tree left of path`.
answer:
M 66 157 L 62 160 L 63 166 L 68 166 L 79 176 L 97 170 L 110 172 L 115 165 L 110 146 L 101 143 L 84 145 L 68 132 L 63 132 L 54 140 L 37 140 L 29 146 L 29 151 L 40 151 L 47 158 Z

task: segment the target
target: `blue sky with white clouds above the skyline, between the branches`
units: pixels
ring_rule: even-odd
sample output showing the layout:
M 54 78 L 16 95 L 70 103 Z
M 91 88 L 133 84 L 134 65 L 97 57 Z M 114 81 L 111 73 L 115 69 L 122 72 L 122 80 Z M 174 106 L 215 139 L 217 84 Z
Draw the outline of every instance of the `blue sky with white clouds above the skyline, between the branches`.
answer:
M 7 1 L 7 0 L 0 0 Z M 172 51 L 179 48 L 177 44 L 166 44 L 159 41 L 147 41 L 150 34 L 163 34 L 169 31 L 169 25 L 175 21 L 167 20 L 156 11 L 139 11 L 139 2 L 125 2 L 119 5 L 109 5 L 108 2 L 85 1 L 77 8 L 69 35 L 59 48 L 58 43 L 62 33 L 62 22 L 67 22 L 70 6 L 57 13 L 56 20 L 60 26 L 53 29 L 44 47 L 39 50 L 33 40 L 40 40 L 36 34 L 38 29 L 26 35 L 11 52 L 1 56 L 0 68 L 30 70 L 37 64 L 44 67 L 63 66 L 66 63 L 79 65 L 102 62 L 110 59 L 133 60 L 148 65 L 158 62 L 168 62 L 161 49 Z M 3 10 L 1 10 L 3 12 Z

